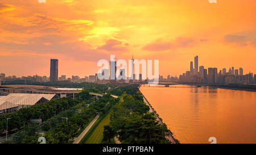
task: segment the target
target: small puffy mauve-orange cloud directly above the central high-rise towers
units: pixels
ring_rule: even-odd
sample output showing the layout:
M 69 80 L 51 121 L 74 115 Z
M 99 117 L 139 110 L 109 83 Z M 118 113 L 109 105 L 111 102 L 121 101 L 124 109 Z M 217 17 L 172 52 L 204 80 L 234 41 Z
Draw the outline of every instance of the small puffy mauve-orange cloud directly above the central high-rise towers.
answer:
M 127 44 L 125 44 L 127 46 Z M 97 49 L 102 49 L 105 51 L 113 52 L 113 51 L 120 51 L 120 52 L 126 52 L 128 49 L 126 47 L 122 46 L 122 42 L 114 39 L 110 39 L 106 41 L 106 44 L 101 45 Z

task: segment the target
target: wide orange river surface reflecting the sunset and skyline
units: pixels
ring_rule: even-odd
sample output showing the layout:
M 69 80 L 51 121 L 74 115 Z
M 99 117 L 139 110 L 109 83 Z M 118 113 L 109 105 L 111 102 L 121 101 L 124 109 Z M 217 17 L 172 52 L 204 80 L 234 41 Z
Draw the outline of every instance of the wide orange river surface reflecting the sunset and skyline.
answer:
M 140 90 L 180 143 L 256 143 L 256 93 L 187 85 Z

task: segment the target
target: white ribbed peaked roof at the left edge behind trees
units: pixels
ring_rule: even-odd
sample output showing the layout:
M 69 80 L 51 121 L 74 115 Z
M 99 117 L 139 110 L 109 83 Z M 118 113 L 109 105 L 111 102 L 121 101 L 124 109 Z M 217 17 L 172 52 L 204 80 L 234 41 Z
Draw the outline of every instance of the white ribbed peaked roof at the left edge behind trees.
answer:
M 11 93 L 0 97 L 0 110 L 17 107 L 18 105 L 34 105 L 40 99 L 51 100 L 55 94 L 21 94 Z

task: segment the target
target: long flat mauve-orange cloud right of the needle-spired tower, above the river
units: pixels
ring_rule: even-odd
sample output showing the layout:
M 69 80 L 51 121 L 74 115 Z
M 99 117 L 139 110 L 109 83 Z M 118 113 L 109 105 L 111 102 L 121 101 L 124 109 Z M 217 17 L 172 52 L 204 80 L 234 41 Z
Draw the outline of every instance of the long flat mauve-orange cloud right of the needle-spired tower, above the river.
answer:
M 188 37 L 177 37 L 174 41 L 162 42 L 161 40 L 155 43 L 147 44 L 142 49 L 146 51 L 166 51 L 175 48 L 193 47 L 195 40 Z

